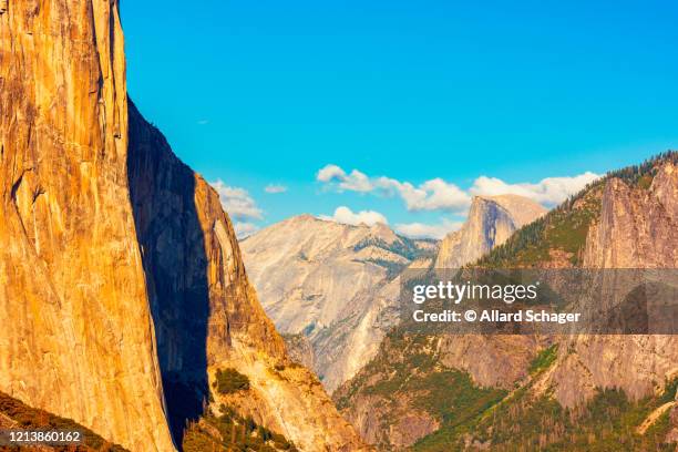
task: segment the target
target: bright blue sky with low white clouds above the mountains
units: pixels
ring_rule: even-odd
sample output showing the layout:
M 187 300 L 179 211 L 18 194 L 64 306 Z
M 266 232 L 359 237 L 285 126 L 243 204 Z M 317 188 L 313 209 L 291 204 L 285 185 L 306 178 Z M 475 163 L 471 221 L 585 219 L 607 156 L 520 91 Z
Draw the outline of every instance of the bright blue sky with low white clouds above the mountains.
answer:
M 122 13 L 131 96 L 223 182 L 243 230 L 345 206 L 373 214 L 341 220 L 440 235 L 473 194 L 552 205 L 590 173 L 678 147 L 675 1 L 146 0 Z M 343 175 L 318 181 L 329 164 Z

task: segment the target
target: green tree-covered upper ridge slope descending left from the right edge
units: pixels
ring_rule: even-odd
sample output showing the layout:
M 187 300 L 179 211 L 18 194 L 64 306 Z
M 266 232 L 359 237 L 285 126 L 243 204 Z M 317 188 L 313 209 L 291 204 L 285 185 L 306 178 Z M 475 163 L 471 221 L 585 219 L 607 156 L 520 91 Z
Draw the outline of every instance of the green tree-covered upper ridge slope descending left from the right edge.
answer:
M 553 251 L 561 251 L 573 266 L 581 264 L 588 227 L 600 214 L 600 195 L 605 183 L 616 177 L 633 187 L 647 189 L 658 167 L 666 162 L 678 164 L 678 152 L 669 151 L 640 165 L 608 173 L 542 218 L 517 230 L 476 265 L 487 268 L 535 267 L 552 261 L 555 258 Z

